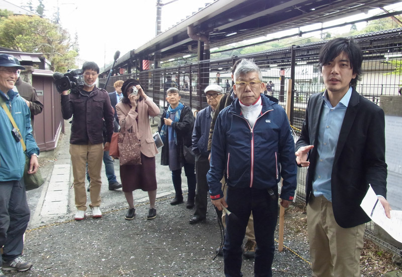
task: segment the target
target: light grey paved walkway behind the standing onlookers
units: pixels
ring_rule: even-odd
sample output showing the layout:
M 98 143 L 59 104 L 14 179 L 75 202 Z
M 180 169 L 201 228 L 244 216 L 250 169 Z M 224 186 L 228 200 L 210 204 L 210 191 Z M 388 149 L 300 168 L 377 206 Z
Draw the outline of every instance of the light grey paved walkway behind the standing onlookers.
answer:
M 157 125 L 152 126 L 153 131 L 157 130 Z M 74 190 L 71 188 L 73 181 L 71 161 L 69 154 L 70 123 L 65 121 L 65 134 L 62 135 L 55 151 L 55 161 L 47 162 L 41 168 L 42 174 L 46 177 L 45 184 L 38 190 L 29 191 L 28 202 L 31 208 L 31 221 L 29 227 L 35 228 L 54 220 L 65 220 L 72 218 L 76 212 L 74 205 Z M 46 161 L 52 157 L 48 153 L 42 153 L 40 159 Z M 171 182 L 171 172 L 167 166 L 160 165 L 160 153 L 156 156 L 157 173 L 157 198 L 174 194 Z M 115 174 L 120 182 L 119 161 L 115 161 Z M 102 167 L 102 189 L 101 210 L 110 210 L 114 206 L 121 206 L 126 203 L 122 189 L 109 191 L 108 179 L 105 173 L 105 166 Z M 187 191 L 184 171 L 182 173 L 183 192 Z M 88 184 L 87 184 L 88 185 Z M 141 190 L 134 192 L 136 203 L 147 202 L 148 193 Z M 87 205 L 90 203 L 89 193 L 87 194 Z M 88 207 L 87 213 L 90 213 Z

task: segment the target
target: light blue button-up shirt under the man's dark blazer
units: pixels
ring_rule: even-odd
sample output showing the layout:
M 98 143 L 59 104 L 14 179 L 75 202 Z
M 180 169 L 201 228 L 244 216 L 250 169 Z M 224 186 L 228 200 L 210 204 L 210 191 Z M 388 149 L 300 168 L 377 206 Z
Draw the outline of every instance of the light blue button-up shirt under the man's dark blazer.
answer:
M 341 101 L 333 107 L 328 99 L 327 90 L 323 94 L 324 106 L 319 123 L 318 160 L 313 178 L 313 193 L 315 196 L 323 195 L 329 201 L 332 201 L 331 173 L 336 146 L 351 95 L 352 87 L 349 87 Z

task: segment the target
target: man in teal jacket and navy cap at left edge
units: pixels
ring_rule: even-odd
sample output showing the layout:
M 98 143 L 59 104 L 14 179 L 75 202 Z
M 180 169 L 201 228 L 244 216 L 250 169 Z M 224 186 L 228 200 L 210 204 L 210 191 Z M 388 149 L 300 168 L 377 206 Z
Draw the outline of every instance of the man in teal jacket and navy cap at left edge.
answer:
M 32 135 L 29 107 L 13 91 L 19 69 L 25 68 L 13 56 L 0 54 L 0 265 L 3 270 L 26 271 L 32 263 L 21 257 L 30 216 L 23 182 L 25 156 L 31 157 L 28 173 L 37 172 L 39 148 Z M 10 111 L 19 131 L 15 130 L 6 110 Z M 26 153 L 21 138 L 26 145 Z M 4 277 L 1 269 L 0 277 Z

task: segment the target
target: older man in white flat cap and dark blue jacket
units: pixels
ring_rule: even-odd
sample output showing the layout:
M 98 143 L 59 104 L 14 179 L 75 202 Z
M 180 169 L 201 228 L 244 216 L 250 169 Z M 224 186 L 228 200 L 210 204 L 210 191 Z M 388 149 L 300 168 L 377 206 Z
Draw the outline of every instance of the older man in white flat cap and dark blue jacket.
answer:
M 220 85 L 209 85 L 206 87 L 204 92 L 209 106 L 200 110 L 195 118 L 194 129 L 192 131 L 192 151 L 195 153 L 195 178 L 197 186 L 195 189 L 195 212 L 194 216 L 190 219 L 190 224 L 203 221 L 207 217 L 207 173 L 210 170 L 208 136 L 211 129 L 212 116 L 222 97 L 222 91 L 223 89 Z

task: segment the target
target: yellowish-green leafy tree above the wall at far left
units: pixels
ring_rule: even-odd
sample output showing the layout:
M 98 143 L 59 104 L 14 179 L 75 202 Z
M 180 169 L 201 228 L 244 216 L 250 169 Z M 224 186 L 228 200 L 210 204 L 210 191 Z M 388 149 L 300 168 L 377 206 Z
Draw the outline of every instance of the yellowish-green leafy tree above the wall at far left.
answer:
M 38 16 L 10 16 L 0 21 L 0 45 L 23 52 L 43 53 L 51 69 L 74 68 L 77 51 L 68 32 Z

